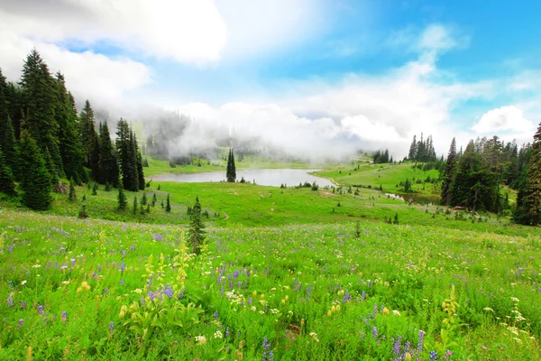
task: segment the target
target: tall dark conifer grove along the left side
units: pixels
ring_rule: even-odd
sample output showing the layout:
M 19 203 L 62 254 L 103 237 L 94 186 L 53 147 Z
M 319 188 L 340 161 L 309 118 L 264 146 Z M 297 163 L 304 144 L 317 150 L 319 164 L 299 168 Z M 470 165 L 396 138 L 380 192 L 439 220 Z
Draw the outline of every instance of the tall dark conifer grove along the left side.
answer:
M 121 119 L 113 143 L 107 122 L 96 126 L 87 100 L 78 113 L 64 76 L 50 74 L 35 49 L 18 83 L 0 69 L 0 191 L 33 209 L 50 208 L 61 179 L 144 190 L 142 155 L 133 130 Z

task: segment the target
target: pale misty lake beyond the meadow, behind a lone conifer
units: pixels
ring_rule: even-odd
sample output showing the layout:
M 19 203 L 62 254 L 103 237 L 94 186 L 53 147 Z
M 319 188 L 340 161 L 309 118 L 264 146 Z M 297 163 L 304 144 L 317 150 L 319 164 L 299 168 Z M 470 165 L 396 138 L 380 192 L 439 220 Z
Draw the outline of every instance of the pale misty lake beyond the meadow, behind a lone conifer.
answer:
M 307 181 L 316 182 L 320 187 L 333 186 L 331 180 L 308 174 L 316 170 L 294 169 L 247 169 L 236 171 L 237 181 L 244 177 L 247 182 L 255 180 L 256 184 L 263 186 L 280 187 L 286 184 L 288 187 L 298 186 L 298 183 Z M 181 181 L 186 183 L 201 183 L 207 181 L 225 180 L 225 171 L 206 171 L 201 173 L 166 173 L 151 177 L 153 180 Z

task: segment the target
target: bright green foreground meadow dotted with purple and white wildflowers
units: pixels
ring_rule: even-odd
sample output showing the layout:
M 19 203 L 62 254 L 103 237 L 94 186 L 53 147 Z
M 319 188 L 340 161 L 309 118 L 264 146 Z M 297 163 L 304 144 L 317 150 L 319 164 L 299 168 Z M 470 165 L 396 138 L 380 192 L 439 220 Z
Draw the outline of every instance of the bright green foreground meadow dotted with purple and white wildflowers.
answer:
M 207 230 L 0 210 L 0 358 L 541 358 L 538 234 Z

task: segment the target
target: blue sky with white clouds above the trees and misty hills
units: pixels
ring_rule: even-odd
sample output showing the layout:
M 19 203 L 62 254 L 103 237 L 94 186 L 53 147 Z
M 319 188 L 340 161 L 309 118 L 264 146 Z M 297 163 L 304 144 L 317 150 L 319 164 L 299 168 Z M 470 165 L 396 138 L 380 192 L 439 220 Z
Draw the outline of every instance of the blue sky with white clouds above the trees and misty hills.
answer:
M 541 119 L 536 1 L 0 0 L 0 68 L 36 48 L 112 117 L 176 111 L 292 152 L 414 134 L 530 142 Z M 149 120 L 151 121 L 151 120 Z

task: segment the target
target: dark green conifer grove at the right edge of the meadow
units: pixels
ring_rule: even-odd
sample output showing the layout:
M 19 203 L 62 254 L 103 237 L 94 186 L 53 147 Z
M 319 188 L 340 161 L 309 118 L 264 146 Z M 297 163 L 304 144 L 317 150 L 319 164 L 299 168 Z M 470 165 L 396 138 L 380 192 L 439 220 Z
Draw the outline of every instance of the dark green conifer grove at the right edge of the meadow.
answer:
M 534 143 L 518 149 L 515 141 L 504 143 L 498 136 L 471 140 L 463 151 L 456 149 L 453 138 L 447 154 L 441 203 L 446 206 L 502 212 L 509 199 L 500 192 L 501 185 L 518 190 L 513 219 L 536 225 L 541 221 L 541 124 Z

